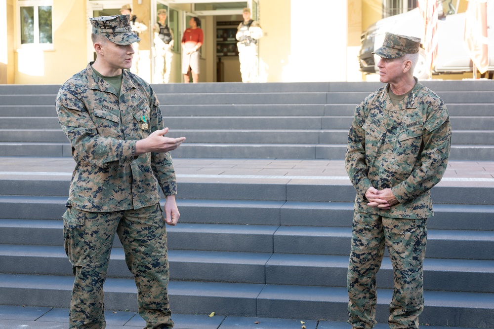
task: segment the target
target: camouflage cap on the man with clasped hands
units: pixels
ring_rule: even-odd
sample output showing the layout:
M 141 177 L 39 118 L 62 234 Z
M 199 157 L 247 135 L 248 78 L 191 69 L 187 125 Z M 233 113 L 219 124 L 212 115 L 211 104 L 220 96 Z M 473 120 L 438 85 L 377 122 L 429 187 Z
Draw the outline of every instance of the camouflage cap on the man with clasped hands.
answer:
M 386 32 L 382 47 L 374 50 L 372 54 L 384 58 L 398 58 L 405 54 L 418 53 L 420 38 L 400 36 Z

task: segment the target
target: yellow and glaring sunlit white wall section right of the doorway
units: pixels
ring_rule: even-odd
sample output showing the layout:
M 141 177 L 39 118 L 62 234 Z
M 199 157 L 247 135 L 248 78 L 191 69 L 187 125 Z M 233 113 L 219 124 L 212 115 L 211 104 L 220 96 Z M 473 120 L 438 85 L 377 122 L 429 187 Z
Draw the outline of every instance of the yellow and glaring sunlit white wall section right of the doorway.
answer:
M 347 79 L 347 0 L 262 0 L 260 9 L 266 81 Z

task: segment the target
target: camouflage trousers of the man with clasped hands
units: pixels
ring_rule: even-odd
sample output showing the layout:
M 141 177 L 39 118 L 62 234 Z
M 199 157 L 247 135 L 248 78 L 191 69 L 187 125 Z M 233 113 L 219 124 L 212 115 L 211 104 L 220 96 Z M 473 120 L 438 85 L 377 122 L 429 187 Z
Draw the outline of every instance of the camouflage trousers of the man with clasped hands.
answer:
M 389 304 L 389 328 L 418 328 L 424 308 L 423 260 L 427 242 L 426 219 L 394 219 L 355 212 L 348 265 L 348 323 L 371 329 L 376 324 L 375 276 L 388 248 L 394 273 Z

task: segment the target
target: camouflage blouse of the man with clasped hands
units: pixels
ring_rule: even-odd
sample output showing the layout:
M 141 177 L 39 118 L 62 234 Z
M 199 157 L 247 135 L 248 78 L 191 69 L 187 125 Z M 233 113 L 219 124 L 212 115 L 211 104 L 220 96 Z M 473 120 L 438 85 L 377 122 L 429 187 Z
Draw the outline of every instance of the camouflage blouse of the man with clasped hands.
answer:
M 393 106 L 389 85 L 369 95 L 355 110 L 348 133 L 345 166 L 357 190 L 357 211 L 390 218 L 434 216 L 430 189 L 448 163 L 451 124 L 444 102 L 416 81 Z M 389 210 L 367 206 L 369 187 L 391 188 L 398 204 Z

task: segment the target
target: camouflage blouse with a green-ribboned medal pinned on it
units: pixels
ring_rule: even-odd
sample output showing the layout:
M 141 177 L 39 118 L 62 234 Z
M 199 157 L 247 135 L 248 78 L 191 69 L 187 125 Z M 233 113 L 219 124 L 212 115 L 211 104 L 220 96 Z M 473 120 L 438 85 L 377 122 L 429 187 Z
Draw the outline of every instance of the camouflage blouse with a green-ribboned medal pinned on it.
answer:
M 120 97 L 94 73 L 92 63 L 65 82 L 57 95 L 58 120 L 76 167 L 67 207 L 91 212 L 138 209 L 176 194 L 170 154 L 134 156 L 137 140 L 163 129 L 151 86 L 123 71 Z

